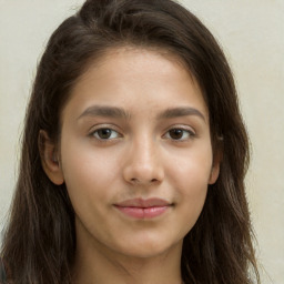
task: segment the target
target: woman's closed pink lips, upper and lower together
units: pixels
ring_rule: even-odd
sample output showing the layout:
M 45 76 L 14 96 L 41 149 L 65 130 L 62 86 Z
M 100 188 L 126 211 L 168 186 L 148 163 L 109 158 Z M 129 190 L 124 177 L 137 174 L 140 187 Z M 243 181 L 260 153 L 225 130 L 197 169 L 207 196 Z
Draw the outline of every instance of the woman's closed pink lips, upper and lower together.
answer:
M 132 199 L 114 206 L 123 214 L 134 219 L 153 219 L 164 214 L 172 204 L 162 199 Z

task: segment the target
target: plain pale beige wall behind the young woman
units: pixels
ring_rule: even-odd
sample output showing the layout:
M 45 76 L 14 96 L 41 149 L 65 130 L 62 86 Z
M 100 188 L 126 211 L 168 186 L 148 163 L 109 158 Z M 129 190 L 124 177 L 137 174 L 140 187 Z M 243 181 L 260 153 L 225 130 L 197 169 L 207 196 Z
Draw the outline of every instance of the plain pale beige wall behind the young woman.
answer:
M 44 44 L 82 0 L 0 0 L 0 230 Z M 183 0 L 221 42 L 251 135 L 246 179 L 263 283 L 284 283 L 284 0 Z

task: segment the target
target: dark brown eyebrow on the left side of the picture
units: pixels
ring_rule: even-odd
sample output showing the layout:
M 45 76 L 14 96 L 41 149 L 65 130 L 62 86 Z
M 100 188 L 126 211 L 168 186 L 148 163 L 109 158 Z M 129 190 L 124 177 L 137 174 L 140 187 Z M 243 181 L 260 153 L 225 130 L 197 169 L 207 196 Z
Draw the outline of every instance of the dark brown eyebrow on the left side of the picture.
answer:
M 92 105 L 88 108 L 77 120 L 83 116 L 104 116 L 114 119 L 130 119 L 130 113 L 116 106 Z

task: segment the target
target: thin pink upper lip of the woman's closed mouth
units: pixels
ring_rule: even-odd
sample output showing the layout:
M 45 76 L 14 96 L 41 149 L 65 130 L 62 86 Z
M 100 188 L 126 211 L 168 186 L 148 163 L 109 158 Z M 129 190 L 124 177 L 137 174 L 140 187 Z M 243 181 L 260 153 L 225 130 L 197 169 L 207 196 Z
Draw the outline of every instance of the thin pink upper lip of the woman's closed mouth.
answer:
M 125 200 L 122 201 L 120 203 L 114 204 L 116 206 L 120 207 L 158 207 L 158 206 L 169 206 L 171 205 L 170 202 L 168 202 L 166 200 L 163 199 L 148 199 L 148 200 L 143 200 L 143 199 L 132 199 L 132 200 Z

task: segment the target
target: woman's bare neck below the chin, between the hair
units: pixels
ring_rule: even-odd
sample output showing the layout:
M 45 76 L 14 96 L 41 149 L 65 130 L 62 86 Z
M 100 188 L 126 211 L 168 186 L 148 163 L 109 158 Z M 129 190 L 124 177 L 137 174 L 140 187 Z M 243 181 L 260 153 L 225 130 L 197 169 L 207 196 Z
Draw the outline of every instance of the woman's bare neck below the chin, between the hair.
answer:
M 181 284 L 181 252 L 182 242 L 159 255 L 129 256 L 78 236 L 73 283 Z

